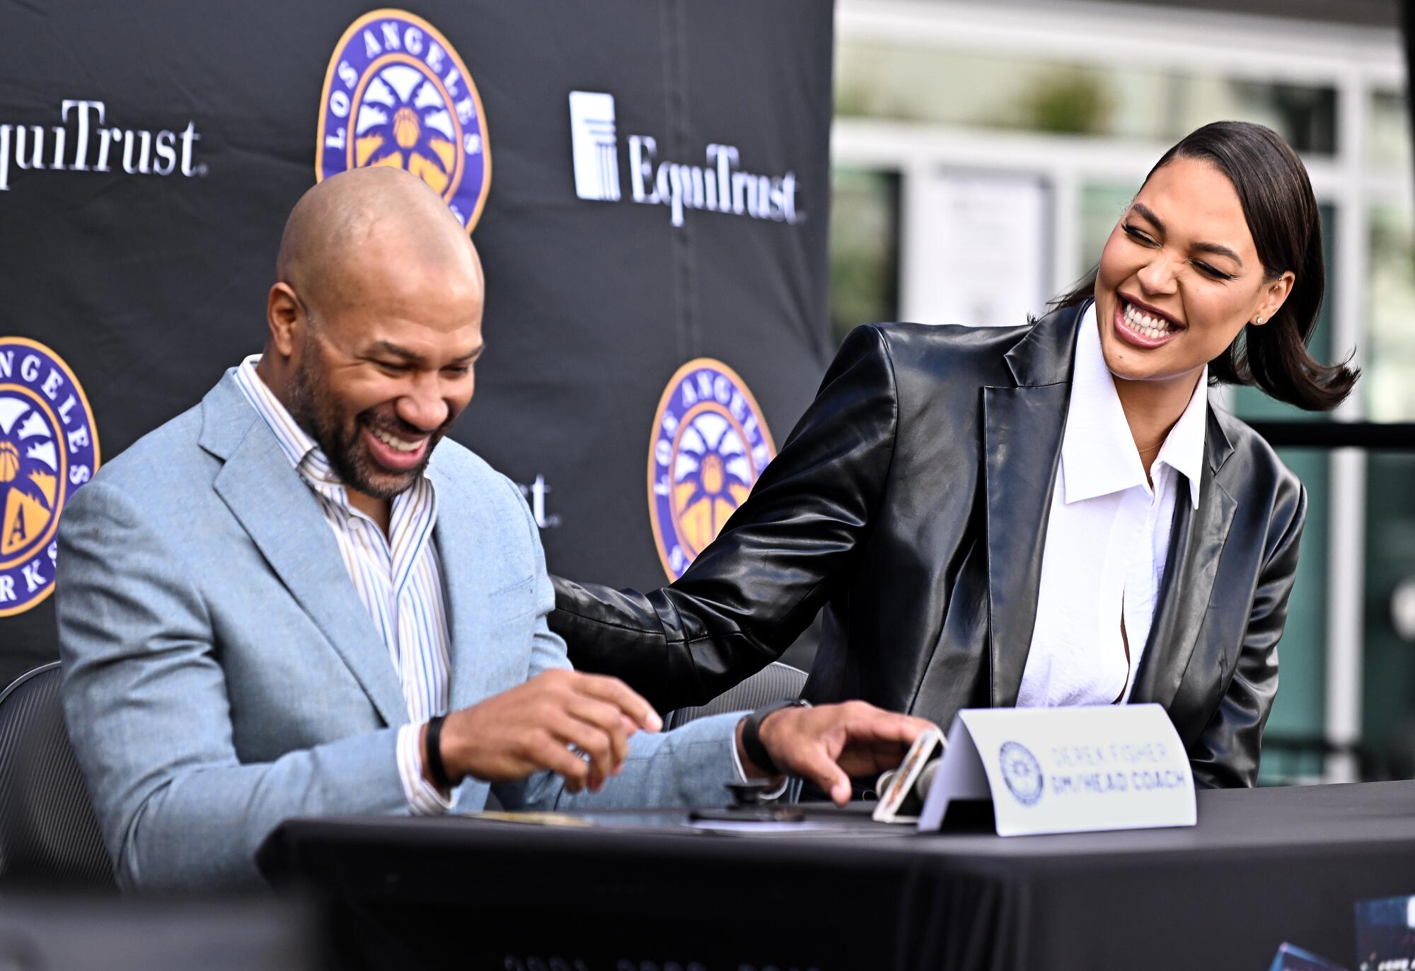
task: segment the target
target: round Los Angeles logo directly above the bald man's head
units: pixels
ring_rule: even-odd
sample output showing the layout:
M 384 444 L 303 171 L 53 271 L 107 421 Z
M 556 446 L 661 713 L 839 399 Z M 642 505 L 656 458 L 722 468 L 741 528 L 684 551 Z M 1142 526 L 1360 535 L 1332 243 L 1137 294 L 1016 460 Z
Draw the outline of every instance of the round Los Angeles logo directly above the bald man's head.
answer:
M 375 10 L 350 24 L 324 75 L 316 178 L 361 166 L 413 173 L 467 232 L 491 188 L 477 85 L 447 38 L 403 10 Z

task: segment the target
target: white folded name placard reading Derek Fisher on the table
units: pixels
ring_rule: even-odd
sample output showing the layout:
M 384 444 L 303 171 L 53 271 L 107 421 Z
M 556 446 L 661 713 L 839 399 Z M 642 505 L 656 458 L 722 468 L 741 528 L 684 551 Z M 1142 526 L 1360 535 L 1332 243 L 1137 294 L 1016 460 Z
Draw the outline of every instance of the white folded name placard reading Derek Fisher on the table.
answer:
M 955 800 L 990 800 L 999 837 L 1197 818 L 1189 757 L 1159 705 L 958 712 L 918 828 L 938 829 Z

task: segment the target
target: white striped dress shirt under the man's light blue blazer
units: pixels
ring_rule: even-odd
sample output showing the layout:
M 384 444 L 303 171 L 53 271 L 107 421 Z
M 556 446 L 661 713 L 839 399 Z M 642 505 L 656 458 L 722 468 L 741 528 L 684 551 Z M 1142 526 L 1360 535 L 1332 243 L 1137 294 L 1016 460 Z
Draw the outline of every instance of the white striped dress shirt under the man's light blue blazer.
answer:
M 388 535 L 348 501 L 320 446 L 290 416 L 256 374 L 260 355 L 236 368 L 236 385 L 275 433 L 280 450 L 310 487 L 324 521 L 338 542 L 358 599 L 388 645 L 388 657 L 403 685 L 409 723 L 398 732 L 398 774 L 409 810 L 434 815 L 451 801 L 423 778 L 422 726 L 449 705 L 451 636 L 443 597 L 441 561 L 433 542 L 437 494 L 420 476 L 393 497 Z

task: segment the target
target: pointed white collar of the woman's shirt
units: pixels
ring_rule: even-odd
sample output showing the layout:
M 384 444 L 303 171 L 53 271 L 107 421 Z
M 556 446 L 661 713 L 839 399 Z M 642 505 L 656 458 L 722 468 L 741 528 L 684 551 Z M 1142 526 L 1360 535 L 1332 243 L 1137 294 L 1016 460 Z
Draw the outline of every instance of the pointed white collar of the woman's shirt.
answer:
M 1189 498 L 1194 508 L 1199 508 L 1207 405 L 1208 367 L 1204 365 L 1184 413 L 1169 430 L 1152 466 L 1152 471 L 1166 466 L 1183 473 L 1189 478 Z M 1115 378 L 1105 367 L 1094 303 L 1081 316 L 1081 333 L 1075 341 L 1071 402 L 1061 439 L 1061 474 L 1067 505 L 1133 486 L 1149 490 L 1145 466 L 1115 392 Z

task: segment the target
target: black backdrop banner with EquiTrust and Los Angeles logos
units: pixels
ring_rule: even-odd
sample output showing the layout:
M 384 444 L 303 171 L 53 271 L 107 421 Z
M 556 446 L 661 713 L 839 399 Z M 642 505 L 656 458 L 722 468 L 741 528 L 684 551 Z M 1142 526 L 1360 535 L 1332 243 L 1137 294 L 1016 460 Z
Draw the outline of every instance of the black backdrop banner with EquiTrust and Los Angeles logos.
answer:
M 822 0 L 0 0 L 0 685 L 57 657 L 52 529 L 258 352 L 290 207 L 396 164 L 487 272 L 453 437 L 550 569 L 658 586 L 826 361 Z

